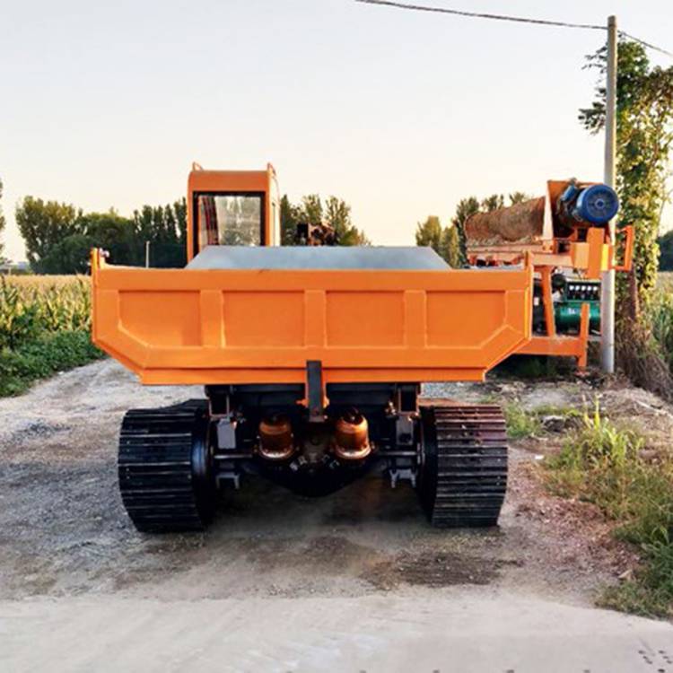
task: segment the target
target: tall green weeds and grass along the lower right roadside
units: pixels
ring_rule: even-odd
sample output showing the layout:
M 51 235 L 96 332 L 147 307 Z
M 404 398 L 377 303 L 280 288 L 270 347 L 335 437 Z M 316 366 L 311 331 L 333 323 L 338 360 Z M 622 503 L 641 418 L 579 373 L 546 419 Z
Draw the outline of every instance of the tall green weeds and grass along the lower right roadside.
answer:
M 643 459 L 644 439 L 600 415 L 585 414 L 564 448 L 546 461 L 553 493 L 594 503 L 616 521 L 615 535 L 642 550 L 634 579 L 607 589 L 600 604 L 673 616 L 673 457 Z

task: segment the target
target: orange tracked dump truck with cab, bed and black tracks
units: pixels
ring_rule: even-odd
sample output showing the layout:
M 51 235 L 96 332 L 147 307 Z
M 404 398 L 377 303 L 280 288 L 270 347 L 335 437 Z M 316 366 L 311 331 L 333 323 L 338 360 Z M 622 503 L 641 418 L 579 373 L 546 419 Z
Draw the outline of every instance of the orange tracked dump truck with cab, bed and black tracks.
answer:
M 534 276 L 562 263 L 599 274 L 612 264 L 605 227 L 582 221 L 565 247 L 452 269 L 425 248 L 280 247 L 279 214 L 271 166 L 195 165 L 186 268 L 92 253 L 95 344 L 144 384 L 205 386 L 124 418 L 119 488 L 135 527 L 203 529 L 218 488 L 247 473 L 327 494 L 377 468 L 393 487 L 410 480 L 434 525 L 495 525 L 500 408 L 419 406 L 420 383 L 483 380 L 526 352 Z M 561 337 L 537 338 L 559 350 Z

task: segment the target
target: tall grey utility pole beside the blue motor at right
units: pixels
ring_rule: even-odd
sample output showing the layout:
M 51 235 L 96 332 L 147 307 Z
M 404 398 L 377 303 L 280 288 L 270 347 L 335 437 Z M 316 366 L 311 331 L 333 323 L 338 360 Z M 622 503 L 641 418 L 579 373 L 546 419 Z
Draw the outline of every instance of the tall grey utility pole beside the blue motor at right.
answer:
M 605 101 L 605 175 L 609 187 L 615 187 L 616 162 L 616 16 L 607 17 L 607 81 Z M 615 220 L 607 224 L 610 243 L 615 245 Z M 600 293 L 600 361 L 603 371 L 615 372 L 615 271 L 603 273 Z

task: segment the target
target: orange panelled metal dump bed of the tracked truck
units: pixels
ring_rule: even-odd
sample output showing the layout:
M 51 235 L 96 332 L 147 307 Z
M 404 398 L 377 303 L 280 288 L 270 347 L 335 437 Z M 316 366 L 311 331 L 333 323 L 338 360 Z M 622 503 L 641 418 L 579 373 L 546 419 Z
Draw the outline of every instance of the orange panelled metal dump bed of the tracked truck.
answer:
M 93 341 L 147 384 L 481 380 L 531 337 L 532 268 L 92 263 Z

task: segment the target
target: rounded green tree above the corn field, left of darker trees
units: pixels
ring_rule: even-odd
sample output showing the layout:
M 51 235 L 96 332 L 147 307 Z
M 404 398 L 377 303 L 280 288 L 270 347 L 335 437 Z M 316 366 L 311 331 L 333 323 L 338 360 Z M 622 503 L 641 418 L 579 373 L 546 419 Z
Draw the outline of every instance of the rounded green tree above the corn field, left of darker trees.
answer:
M 81 215 L 82 212 L 74 205 L 57 201 L 45 203 L 41 198 L 25 197 L 16 206 L 16 224 L 25 241 L 26 255 L 33 270 L 46 273 L 42 262 L 58 243 L 68 236 L 83 233 Z

